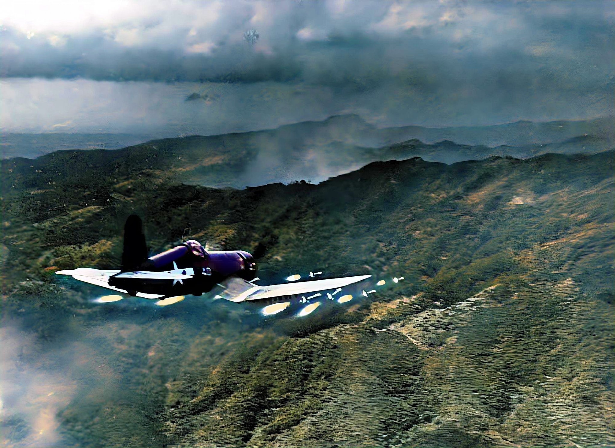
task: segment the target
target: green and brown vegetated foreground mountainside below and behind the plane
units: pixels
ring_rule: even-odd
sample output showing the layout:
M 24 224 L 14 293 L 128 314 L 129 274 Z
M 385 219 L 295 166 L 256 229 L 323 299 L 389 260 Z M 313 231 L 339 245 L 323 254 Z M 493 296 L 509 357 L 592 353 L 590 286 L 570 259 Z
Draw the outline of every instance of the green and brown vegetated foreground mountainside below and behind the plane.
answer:
M 90 375 L 113 385 L 58 409 L 67 445 L 615 443 L 612 151 L 375 162 L 242 191 L 173 181 L 162 146 L 122 151 L 0 167 L 3 318 L 40 352 L 96 344 Z M 101 289 L 52 275 L 117 265 L 135 212 L 153 252 L 195 238 L 254 251 L 264 283 L 323 270 L 387 286 L 263 320 L 205 296 L 92 304 Z

